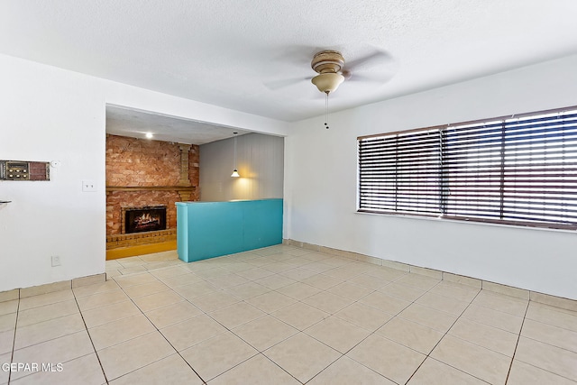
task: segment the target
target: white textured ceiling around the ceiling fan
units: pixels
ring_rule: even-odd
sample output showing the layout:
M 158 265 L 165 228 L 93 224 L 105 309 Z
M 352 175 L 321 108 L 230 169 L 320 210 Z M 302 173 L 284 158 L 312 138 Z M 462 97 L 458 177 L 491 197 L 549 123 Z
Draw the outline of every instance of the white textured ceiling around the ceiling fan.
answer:
M 317 50 L 391 58 L 354 72 L 336 111 L 575 53 L 576 14 L 575 0 L 3 0 L 0 53 L 297 121 L 324 113 L 306 79 Z

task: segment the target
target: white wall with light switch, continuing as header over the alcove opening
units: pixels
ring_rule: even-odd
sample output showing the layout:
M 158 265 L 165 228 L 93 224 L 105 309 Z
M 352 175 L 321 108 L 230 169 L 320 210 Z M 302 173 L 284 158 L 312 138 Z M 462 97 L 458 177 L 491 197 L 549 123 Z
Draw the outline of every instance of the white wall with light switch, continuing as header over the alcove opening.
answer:
M 0 291 L 105 270 L 105 105 L 284 135 L 288 124 L 0 55 L 0 160 L 60 160 L 0 181 Z M 96 181 L 83 193 L 81 181 Z M 52 268 L 50 256 L 62 265 Z

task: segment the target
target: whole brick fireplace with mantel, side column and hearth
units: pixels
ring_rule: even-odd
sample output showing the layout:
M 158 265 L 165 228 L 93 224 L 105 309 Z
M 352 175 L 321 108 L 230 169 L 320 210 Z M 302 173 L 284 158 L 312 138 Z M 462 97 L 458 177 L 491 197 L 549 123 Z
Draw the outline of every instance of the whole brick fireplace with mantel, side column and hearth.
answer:
M 106 250 L 176 241 L 175 203 L 199 196 L 198 151 L 197 145 L 106 135 Z M 126 231 L 127 210 L 160 206 L 165 229 Z

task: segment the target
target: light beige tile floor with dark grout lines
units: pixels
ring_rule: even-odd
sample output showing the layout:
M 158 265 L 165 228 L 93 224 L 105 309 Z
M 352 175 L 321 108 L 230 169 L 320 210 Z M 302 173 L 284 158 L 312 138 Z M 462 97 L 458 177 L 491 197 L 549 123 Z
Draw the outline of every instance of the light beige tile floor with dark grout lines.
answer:
M 0 384 L 577 384 L 577 313 L 488 290 L 287 245 L 106 270 L 0 303 L 0 362 L 45 365 Z

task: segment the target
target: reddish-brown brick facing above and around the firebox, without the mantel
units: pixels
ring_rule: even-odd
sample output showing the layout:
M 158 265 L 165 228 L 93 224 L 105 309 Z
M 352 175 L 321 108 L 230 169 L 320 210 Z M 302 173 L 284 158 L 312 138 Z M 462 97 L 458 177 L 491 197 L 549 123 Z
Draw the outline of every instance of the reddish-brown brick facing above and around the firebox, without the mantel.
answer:
M 179 143 L 139 140 L 124 136 L 106 135 L 106 186 L 167 187 L 180 181 Z M 197 145 L 188 151 L 188 179 L 198 186 Z M 196 188 L 190 200 L 198 200 Z M 181 197 L 177 190 L 111 191 L 106 193 L 106 235 L 121 234 L 123 206 L 167 206 L 167 228 L 177 225 L 175 202 Z

